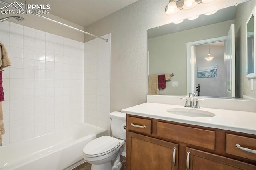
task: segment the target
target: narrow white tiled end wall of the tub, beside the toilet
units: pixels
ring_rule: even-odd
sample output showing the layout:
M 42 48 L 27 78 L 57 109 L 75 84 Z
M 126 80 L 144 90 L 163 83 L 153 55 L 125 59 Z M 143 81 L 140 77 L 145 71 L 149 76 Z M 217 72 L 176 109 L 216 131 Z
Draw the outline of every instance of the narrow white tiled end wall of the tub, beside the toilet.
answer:
M 84 43 L 84 122 L 110 129 L 110 34 Z

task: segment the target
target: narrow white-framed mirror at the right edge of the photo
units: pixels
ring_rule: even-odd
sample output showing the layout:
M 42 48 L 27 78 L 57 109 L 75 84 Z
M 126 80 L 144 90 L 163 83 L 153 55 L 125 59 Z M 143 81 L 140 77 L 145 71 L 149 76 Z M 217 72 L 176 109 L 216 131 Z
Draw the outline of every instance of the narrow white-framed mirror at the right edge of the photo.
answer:
M 252 10 L 247 22 L 246 22 L 246 46 L 247 46 L 247 75 L 248 78 L 256 77 L 256 63 L 255 63 L 255 34 L 254 34 L 254 20 L 255 20 L 255 8 Z

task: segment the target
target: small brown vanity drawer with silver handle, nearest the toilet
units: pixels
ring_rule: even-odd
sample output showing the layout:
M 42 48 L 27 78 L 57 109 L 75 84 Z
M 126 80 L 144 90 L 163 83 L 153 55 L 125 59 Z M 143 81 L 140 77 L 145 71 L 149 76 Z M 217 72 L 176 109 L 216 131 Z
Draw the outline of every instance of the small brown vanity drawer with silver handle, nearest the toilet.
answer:
M 151 120 L 128 116 L 127 129 L 136 132 L 151 134 Z

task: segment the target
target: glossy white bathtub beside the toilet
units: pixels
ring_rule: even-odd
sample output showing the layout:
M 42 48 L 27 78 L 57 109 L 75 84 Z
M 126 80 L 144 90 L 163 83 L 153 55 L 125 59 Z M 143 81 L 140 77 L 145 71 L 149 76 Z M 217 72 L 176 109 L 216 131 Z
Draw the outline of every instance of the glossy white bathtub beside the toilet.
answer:
M 0 170 L 70 170 L 82 162 L 84 146 L 107 130 L 82 123 L 0 146 Z

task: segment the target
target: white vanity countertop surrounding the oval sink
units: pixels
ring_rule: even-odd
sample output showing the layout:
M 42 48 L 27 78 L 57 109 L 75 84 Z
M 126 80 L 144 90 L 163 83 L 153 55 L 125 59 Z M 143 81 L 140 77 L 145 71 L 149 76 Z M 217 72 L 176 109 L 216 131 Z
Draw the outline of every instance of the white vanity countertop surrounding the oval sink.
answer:
M 161 103 L 143 103 L 126 109 L 122 113 L 187 123 L 204 127 L 218 128 L 235 132 L 242 132 L 256 135 L 256 113 L 247 111 L 233 111 L 225 109 L 200 108 L 202 111 L 208 111 L 215 114 L 214 117 L 188 117 L 168 113 L 166 109 L 184 108 L 180 105 L 169 105 Z M 188 108 L 197 109 L 197 108 Z

